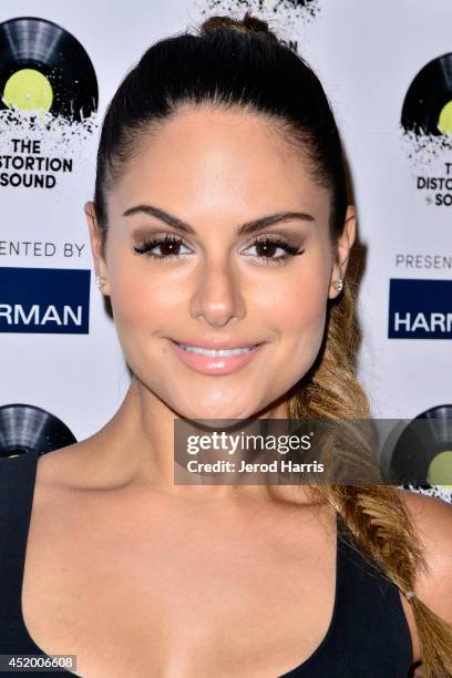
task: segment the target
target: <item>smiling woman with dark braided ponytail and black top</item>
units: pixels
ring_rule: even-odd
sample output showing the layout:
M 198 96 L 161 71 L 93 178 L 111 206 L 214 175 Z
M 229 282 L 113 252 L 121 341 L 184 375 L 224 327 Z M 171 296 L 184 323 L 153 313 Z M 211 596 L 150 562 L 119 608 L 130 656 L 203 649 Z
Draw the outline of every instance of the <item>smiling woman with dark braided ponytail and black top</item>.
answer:
M 369 417 L 317 76 L 249 14 L 156 43 L 110 104 L 85 213 L 133 377 L 92 438 L 3 462 L 1 651 L 88 678 L 451 675 L 450 505 L 173 480 L 175 418 Z

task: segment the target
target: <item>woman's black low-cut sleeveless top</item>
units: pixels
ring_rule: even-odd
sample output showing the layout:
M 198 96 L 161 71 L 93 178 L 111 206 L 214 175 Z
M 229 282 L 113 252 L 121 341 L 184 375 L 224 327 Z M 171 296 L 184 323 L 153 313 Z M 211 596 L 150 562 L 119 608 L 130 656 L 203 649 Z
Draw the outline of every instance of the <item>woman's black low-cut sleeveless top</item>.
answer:
M 21 606 L 37 461 L 31 452 L 0 459 L 0 655 L 45 658 L 27 630 Z M 339 515 L 337 525 L 336 595 L 328 631 L 306 661 L 279 678 L 407 678 L 412 645 L 398 588 L 339 538 L 348 534 Z M 4 675 L 76 676 L 66 669 Z

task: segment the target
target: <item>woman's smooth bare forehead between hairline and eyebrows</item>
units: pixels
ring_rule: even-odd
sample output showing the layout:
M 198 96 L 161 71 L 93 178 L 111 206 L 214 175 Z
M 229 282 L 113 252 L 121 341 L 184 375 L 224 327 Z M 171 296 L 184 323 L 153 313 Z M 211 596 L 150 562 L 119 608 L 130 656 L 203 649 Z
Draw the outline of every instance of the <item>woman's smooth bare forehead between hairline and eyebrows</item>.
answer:
M 199 208 L 210 202 L 282 207 L 294 201 L 328 201 L 306 156 L 280 143 L 268 120 L 209 109 L 185 110 L 144 133 L 114 193 L 121 204 L 152 193 L 155 202 L 171 194 Z

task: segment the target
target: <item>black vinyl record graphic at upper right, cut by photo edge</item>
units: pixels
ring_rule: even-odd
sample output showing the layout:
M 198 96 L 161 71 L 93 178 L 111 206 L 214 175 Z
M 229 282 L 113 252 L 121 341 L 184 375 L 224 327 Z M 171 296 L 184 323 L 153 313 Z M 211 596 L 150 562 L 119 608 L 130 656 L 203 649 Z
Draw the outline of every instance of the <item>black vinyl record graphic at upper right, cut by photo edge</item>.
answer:
M 452 134 L 452 53 L 433 59 L 414 78 L 401 123 L 415 134 Z

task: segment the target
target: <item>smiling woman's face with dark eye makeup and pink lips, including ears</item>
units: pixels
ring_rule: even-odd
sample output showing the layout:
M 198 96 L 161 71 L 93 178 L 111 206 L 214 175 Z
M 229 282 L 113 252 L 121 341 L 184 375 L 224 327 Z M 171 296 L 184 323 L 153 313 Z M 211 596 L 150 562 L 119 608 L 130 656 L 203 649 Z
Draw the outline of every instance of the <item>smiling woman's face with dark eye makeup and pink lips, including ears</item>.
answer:
M 110 193 L 104 259 L 86 206 L 126 360 L 179 417 L 282 415 L 280 398 L 315 361 L 331 282 L 347 266 L 352 208 L 339 269 L 329 193 L 270 124 L 238 110 L 181 109 L 143 140 Z M 222 343 L 248 351 L 199 352 Z

